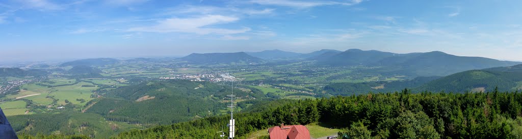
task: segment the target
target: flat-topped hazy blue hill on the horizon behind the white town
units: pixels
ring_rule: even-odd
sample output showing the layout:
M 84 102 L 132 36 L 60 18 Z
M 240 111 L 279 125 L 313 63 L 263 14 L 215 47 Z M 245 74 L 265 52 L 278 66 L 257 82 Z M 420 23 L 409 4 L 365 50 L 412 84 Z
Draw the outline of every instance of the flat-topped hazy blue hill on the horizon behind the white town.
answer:
M 192 64 L 250 64 L 263 62 L 262 59 L 252 57 L 245 52 L 234 53 L 192 53 L 179 60 Z

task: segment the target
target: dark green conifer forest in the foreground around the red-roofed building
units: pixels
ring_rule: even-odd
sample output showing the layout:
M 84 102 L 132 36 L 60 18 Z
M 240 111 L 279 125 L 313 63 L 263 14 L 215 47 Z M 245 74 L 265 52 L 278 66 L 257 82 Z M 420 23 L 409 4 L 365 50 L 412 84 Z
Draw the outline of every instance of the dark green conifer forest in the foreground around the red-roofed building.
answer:
M 400 93 L 274 102 L 235 114 L 236 138 L 269 127 L 320 122 L 350 138 L 520 138 L 522 93 Z M 115 138 L 220 138 L 230 116 L 123 132 Z M 267 137 L 267 136 L 264 136 Z

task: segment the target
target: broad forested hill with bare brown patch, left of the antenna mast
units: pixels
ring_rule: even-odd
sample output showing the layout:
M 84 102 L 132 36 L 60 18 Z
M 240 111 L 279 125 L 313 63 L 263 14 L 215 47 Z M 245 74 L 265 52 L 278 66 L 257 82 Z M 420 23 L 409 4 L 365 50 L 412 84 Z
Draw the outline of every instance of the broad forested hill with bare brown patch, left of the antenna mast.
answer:
M 93 105 L 86 113 L 99 114 L 111 121 L 170 124 L 219 114 L 221 109 L 226 108 L 222 101 L 230 90 L 230 86 L 211 82 L 148 81 L 105 92 L 112 97 L 89 102 Z M 239 89 L 234 90 L 234 94 L 243 99 L 264 96 L 263 93 L 248 93 Z

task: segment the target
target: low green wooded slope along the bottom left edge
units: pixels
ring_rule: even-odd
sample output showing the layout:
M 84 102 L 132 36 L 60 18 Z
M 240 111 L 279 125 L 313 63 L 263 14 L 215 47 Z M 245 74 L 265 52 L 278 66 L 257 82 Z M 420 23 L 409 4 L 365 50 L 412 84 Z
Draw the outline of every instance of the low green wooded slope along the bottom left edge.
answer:
M 83 134 L 91 137 L 109 137 L 127 131 L 132 126 L 118 122 L 107 122 L 97 114 L 85 114 L 64 110 L 56 114 L 17 115 L 8 117 L 11 126 L 19 135 L 36 134 Z M 40 137 L 38 137 L 40 138 Z M 56 137 L 62 138 L 62 137 Z

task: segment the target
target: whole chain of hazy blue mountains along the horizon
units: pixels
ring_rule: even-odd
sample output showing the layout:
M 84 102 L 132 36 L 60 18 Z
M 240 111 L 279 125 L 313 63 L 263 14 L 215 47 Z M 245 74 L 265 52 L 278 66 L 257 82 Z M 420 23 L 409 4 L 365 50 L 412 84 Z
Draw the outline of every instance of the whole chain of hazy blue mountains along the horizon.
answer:
M 126 62 L 147 62 L 152 59 L 132 59 Z M 317 64 L 331 66 L 374 66 L 367 72 L 381 74 L 397 74 L 413 77 L 419 76 L 447 76 L 453 73 L 464 72 L 491 67 L 512 66 L 522 62 L 500 61 L 482 57 L 460 57 L 440 51 L 418 53 L 392 53 L 377 50 L 349 49 L 346 51 L 323 49 L 311 53 L 296 53 L 281 50 L 265 50 L 260 52 L 232 52 L 232 53 L 192 53 L 177 60 L 191 64 L 260 64 L 274 60 L 316 61 Z M 99 58 L 65 62 L 61 66 L 100 66 L 110 65 L 123 60 Z

